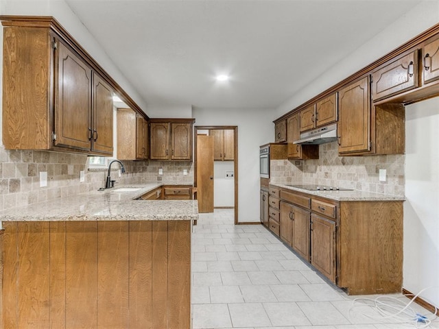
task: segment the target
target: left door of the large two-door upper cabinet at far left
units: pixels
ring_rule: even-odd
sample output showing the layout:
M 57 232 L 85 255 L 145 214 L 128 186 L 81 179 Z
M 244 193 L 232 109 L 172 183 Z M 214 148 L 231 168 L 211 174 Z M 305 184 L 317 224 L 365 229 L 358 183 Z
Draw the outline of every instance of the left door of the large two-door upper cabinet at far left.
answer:
M 62 42 L 58 44 L 54 144 L 90 151 L 91 69 Z

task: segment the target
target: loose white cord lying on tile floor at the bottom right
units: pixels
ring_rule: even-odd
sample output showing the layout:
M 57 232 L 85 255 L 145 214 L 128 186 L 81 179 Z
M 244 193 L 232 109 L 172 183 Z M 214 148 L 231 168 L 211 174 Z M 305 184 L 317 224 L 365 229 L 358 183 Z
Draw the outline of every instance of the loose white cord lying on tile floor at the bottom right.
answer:
M 431 324 L 431 321 L 436 319 L 438 317 L 438 309 L 435 306 L 435 312 L 433 316 L 429 315 L 422 315 L 420 313 L 417 313 L 412 307 L 410 307 L 410 304 L 416 300 L 416 298 L 423 293 L 423 291 L 427 289 L 432 288 L 439 288 L 439 287 L 427 287 L 421 291 L 419 291 L 410 302 L 407 304 L 400 300 L 398 297 L 392 297 L 392 296 L 379 296 L 375 299 L 367 298 L 367 297 L 359 297 L 355 298 L 353 300 L 353 306 L 349 310 L 349 315 L 351 315 L 351 311 L 354 308 L 358 307 L 367 307 L 370 310 L 375 311 L 379 316 L 373 316 L 366 314 L 365 312 L 361 313 L 361 315 L 364 315 L 365 317 L 368 317 L 370 319 L 374 319 L 377 321 L 385 321 L 387 319 L 393 319 L 397 321 L 398 324 L 412 326 L 412 328 L 428 328 Z M 406 295 L 403 295 L 404 297 Z M 401 297 L 400 297 L 401 298 Z M 413 327 L 414 326 L 414 327 Z

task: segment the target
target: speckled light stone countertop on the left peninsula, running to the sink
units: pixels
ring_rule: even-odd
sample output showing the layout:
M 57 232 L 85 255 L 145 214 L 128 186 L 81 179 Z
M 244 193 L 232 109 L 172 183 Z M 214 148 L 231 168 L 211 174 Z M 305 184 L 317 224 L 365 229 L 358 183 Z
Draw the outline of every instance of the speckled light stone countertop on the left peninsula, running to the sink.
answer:
M 0 212 L 0 221 L 167 221 L 198 219 L 197 200 L 136 200 L 169 184 L 130 184 Z M 119 191 L 126 188 L 128 191 Z M 134 191 L 134 188 L 139 188 Z

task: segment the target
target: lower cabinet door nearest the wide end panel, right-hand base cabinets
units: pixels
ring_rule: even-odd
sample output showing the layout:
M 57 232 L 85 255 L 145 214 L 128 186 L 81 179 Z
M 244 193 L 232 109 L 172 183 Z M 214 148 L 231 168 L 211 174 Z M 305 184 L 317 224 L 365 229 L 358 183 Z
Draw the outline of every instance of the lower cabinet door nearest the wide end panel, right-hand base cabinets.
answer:
M 311 215 L 311 265 L 335 282 L 335 221 Z

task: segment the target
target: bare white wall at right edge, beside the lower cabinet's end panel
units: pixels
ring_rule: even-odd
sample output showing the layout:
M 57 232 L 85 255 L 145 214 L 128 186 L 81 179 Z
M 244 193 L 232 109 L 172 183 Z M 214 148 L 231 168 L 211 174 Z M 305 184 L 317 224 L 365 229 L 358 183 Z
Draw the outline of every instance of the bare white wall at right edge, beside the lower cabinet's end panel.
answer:
M 404 282 L 439 306 L 439 97 L 405 111 Z

